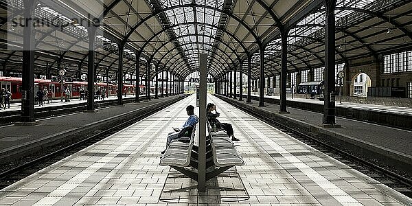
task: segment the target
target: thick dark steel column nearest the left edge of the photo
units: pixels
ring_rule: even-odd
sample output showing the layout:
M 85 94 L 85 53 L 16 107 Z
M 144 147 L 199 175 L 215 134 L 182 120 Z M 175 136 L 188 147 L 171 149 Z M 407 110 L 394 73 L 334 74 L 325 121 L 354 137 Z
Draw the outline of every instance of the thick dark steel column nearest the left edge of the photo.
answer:
M 24 17 L 27 21 L 23 29 L 23 72 L 20 122 L 34 124 L 34 1 L 24 0 Z

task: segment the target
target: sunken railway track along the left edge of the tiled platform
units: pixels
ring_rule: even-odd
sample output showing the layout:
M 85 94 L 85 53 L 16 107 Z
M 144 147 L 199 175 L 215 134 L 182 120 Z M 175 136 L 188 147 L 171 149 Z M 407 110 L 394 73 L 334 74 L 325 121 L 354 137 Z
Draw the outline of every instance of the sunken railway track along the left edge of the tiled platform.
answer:
M 181 99 L 176 99 L 171 103 L 179 100 Z M 60 148 L 56 147 L 55 150 L 49 151 L 47 154 L 39 155 L 38 157 L 27 161 L 27 163 L 16 165 L 9 170 L 5 170 L 0 173 L 0 190 L 16 183 L 17 181 L 20 181 L 21 179 L 24 179 L 27 176 L 30 176 L 31 174 L 34 174 L 35 172 L 38 172 L 39 170 L 42 170 L 43 168 L 46 168 L 49 165 L 52 165 L 53 163 L 56 163 L 57 161 L 60 161 L 61 159 L 64 159 L 65 157 L 68 157 L 69 155 L 73 155 L 74 153 L 91 146 L 98 141 L 101 141 L 102 139 L 123 130 L 124 128 L 127 128 L 128 126 L 139 122 L 141 119 L 144 119 L 157 111 L 161 111 L 163 108 L 168 106 L 170 106 L 170 104 L 163 104 L 156 109 L 150 110 L 148 113 L 142 113 L 133 119 L 129 119 L 126 122 L 115 125 L 107 130 L 97 130 L 95 131 L 95 134 L 91 137 L 87 137 L 87 139 L 83 139 L 82 141 L 78 141 L 68 146 L 62 146 Z

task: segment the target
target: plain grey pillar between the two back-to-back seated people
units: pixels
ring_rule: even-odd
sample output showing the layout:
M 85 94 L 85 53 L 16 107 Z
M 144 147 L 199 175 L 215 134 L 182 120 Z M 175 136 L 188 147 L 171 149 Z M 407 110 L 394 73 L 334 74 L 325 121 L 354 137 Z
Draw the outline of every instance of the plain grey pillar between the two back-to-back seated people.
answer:
M 206 192 L 206 93 L 207 54 L 200 54 L 198 192 Z

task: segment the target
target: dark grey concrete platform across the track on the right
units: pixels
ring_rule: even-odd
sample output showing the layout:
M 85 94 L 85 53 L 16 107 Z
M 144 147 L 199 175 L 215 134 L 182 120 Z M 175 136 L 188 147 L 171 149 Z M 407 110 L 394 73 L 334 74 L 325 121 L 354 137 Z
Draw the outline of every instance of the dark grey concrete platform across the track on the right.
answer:
M 290 113 L 279 114 L 277 104 L 265 103 L 266 107 L 262 108 L 258 107 L 259 102 L 255 100 L 252 100 L 253 104 L 246 104 L 218 96 L 233 104 L 271 117 L 277 122 L 297 128 L 302 133 L 350 148 L 361 155 L 378 159 L 378 161 L 412 174 L 412 131 L 343 117 L 336 117 L 336 124 L 341 125 L 340 128 L 324 128 L 319 126 L 323 121 L 322 113 L 288 107 Z

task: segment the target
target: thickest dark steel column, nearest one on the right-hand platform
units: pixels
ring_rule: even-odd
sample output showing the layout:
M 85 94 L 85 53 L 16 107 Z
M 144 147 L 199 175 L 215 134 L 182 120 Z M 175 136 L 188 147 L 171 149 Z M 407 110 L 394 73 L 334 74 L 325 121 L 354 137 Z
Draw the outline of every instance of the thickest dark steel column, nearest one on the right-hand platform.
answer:
M 325 0 L 325 99 L 323 103 L 323 126 L 335 122 L 335 14 L 336 0 Z

